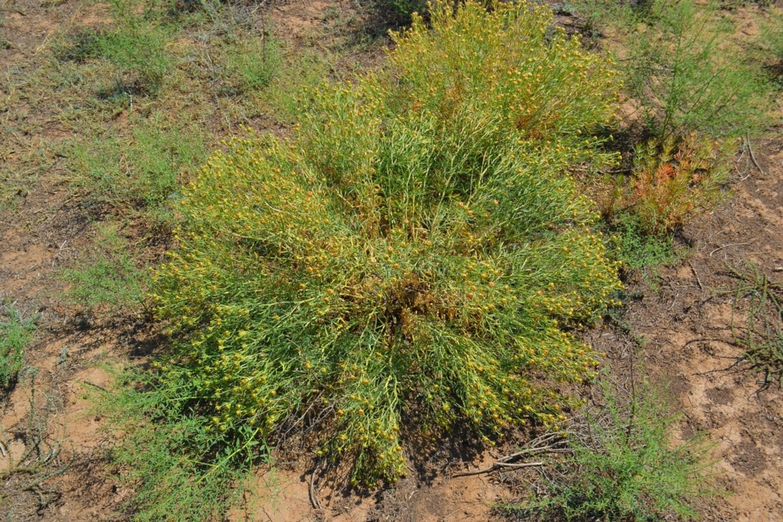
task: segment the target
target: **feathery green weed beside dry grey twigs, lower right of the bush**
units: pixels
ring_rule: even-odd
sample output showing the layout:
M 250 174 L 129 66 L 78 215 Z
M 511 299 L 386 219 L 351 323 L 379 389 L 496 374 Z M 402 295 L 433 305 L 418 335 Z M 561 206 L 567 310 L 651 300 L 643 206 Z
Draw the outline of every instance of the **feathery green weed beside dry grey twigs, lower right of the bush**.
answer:
M 621 393 L 601 381 L 603 402 L 586 407 L 569 434 L 572 453 L 550 466 L 525 505 L 525 520 L 669 520 L 695 517 L 714 495 L 712 462 L 702 437 L 674 444 L 677 415 L 660 393 L 637 384 Z

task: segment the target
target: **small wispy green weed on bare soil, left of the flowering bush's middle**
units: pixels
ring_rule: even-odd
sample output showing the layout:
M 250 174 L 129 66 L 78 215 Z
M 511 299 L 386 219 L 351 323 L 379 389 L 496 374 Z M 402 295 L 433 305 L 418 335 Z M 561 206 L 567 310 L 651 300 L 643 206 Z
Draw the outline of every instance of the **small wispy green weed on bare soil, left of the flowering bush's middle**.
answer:
M 103 225 L 99 233 L 101 241 L 85 266 L 63 271 L 70 300 L 87 308 L 142 303 L 145 274 L 135 266 L 117 226 Z

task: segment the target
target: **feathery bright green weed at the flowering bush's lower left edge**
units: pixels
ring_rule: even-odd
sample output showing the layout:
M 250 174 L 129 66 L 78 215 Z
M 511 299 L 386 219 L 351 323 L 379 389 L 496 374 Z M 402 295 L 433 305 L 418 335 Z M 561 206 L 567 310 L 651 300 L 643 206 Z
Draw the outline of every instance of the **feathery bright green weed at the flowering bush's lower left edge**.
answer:
M 124 433 L 111 462 L 135 492 L 124 506 L 139 522 L 216 520 L 236 501 L 240 484 L 258 461 L 255 428 L 216 433 L 193 401 L 201 390 L 180 374 L 161 386 L 148 372 L 117 375 L 96 397 L 109 433 Z

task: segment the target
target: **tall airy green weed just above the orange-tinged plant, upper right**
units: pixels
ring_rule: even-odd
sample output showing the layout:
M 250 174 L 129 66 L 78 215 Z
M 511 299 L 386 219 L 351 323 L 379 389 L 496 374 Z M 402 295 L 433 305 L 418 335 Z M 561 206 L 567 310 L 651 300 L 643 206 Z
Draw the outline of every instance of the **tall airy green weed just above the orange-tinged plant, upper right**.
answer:
M 691 132 L 741 137 L 768 125 L 770 85 L 731 40 L 731 22 L 715 4 L 650 2 L 645 24 L 630 32 L 630 94 L 664 143 Z

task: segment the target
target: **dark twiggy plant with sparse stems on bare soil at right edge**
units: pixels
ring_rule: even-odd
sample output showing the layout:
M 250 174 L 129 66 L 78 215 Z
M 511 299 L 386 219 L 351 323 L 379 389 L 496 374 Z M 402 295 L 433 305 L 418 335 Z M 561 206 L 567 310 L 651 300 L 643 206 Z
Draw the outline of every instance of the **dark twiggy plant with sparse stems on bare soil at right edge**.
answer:
M 737 302 L 747 299 L 745 324 L 734 326 L 734 339 L 745 353 L 743 361 L 762 375 L 761 387 L 783 384 L 783 283 L 772 281 L 753 264 L 746 270 L 730 267 L 741 284 Z

